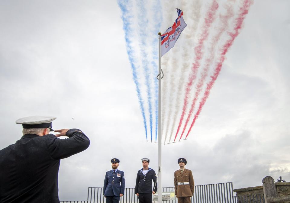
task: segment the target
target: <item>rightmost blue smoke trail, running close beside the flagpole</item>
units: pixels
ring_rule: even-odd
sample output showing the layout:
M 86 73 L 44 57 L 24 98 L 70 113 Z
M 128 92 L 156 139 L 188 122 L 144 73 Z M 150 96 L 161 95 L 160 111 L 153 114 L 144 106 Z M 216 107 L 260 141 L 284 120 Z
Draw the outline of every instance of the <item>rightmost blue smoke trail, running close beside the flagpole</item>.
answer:
M 155 4 L 152 6 L 152 11 L 155 17 L 154 20 L 154 31 L 153 31 L 153 61 L 151 62 L 151 65 L 154 70 L 154 76 L 158 75 L 158 46 L 159 46 L 159 40 L 158 40 L 158 32 L 160 31 L 161 27 L 161 22 L 162 22 L 162 9 L 161 9 L 161 4 L 160 0 L 156 1 Z M 155 79 L 156 77 L 154 77 Z M 163 92 L 164 94 L 164 92 Z M 158 80 L 154 80 L 154 95 L 155 95 L 155 142 L 157 141 L 157 129 L 158 129 Z

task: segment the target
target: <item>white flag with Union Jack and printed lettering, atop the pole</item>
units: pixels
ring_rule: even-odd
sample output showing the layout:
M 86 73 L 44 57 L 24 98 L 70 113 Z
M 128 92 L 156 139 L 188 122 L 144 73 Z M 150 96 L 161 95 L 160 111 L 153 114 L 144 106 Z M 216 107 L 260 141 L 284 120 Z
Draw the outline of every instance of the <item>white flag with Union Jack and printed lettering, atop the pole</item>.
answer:
M 187 26 L 184 22 L 182 15 L 182 10 L 177 9 L 178 18 L 171 27 L 169 27 L 165 33 L 161 35 L 161 57 L 167 53 L 172 47 L 174 47 L 175 42 L 177 41 L 180 33 Z

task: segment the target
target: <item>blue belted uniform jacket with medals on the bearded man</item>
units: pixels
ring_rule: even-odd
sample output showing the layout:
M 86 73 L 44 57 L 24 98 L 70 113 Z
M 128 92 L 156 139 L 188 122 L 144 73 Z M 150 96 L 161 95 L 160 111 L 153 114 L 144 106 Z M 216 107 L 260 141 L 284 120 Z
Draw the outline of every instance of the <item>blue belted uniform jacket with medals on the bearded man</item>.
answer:
M 120 185 L 121 183 L 121 185 Z M 125 176 L 124 172 L 117 170 L 115 174 L 112 170 L 106 172 L 104 180 L 104 196 L 118 196 L 124 195 L 125 192 Z

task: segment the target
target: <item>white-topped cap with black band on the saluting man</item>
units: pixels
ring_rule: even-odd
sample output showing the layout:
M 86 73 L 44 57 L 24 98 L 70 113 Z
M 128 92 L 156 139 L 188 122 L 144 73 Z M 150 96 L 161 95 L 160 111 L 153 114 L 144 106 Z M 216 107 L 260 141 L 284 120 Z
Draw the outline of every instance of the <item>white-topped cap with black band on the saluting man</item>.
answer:
M 52 129 L 51 121 L 55 120 L 54 116 L 28 116 L 24 118 L 19 118 L 15 121 L 17 124 L 22 124 L 23 128 L 49 128 Z

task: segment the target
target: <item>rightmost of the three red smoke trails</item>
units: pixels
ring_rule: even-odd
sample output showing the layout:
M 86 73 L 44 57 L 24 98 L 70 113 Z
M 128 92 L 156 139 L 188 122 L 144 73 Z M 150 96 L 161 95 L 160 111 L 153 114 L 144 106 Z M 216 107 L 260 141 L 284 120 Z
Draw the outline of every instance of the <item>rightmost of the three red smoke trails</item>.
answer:
M 211 91 L 211 88 L 214 85 L 214 82 L 218 78 L 218 75 L 219 75 L 219 73 L 221 71 L 221 67 L 222 67 L 222 64 L 224 62 L 225 55 L 226 55 L 228 49 L 233 44 L 233 42 L 236 39 L 236 37 L 239 35 L 239 30 L 242 28 L 243 20 L 246 17 L 246 15 L 248 14 L 248 11 L 249 11 L 249 8 L 250 8 L 251 4 L 252 4 L 251 0 L 244 0 L 243 6 L 240 8 L 240 14 L 239 14 L 238 18 L 236 19 L 236 24 L 235 24 L 235 27 L 234 27 L 234 33 L 229 33 L 230 39 L 227 40 L 227 42 L 224 44 L 224 47 L 222 48 L 221 56 L 220 56 L 220 58 L 218 60 L 218 63 L 216 64 L 216 68 L 214 70 L 214 75 L 211 76 L 211 81 L 207 84 L 205 94 L 204 94 L 203 98 L 201 99 L 201 102 L 199 103 L 198 111 L 196 112 L 196 114 L 194 116 L 194 119 L 193 119 L 193 121 L 192 121 L 192 123 L 191 123 L 191 125 L 189 127 L 189 130 L 188 130 L 188 132 L 186 134 L 185 139 L 187 138 L 188 134 L 190 133 L 190 131 L 192 129 L 192 126 L 195 124 L 195 121 L 198 118 L 198 115 L 200 114 L 203 105 L 205 105 L 205 101 L 208 98 L 208 95 L 209 95 L 209 93 Z

